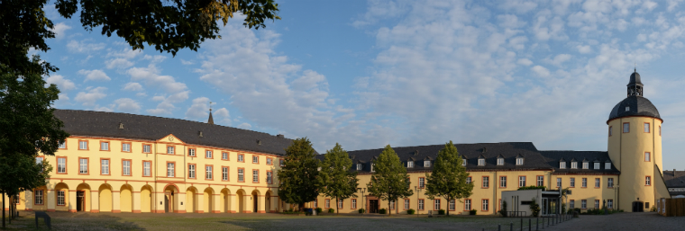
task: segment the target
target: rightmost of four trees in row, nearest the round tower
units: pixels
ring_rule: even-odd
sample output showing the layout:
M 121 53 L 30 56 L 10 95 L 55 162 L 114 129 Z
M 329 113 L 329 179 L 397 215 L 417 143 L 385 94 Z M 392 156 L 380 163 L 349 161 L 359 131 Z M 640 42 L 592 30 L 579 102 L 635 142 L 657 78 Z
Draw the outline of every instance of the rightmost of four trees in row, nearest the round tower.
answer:
M 434 200 L 435 197 L 442 197 L 445 200 L 460 200 L 468 198 L 473 190 L 473 183 L 467 183 L 466 167 L 462 165 L 463 160 L 459 156 L 457 147 L 454 147 L 452 140 L 444 145 L 438 152 L 438 157 L 433 164 L 433 172 L 425 173 L 425 195 Z M 450 216 L 450 209 L 447 209 L 447 216 Z

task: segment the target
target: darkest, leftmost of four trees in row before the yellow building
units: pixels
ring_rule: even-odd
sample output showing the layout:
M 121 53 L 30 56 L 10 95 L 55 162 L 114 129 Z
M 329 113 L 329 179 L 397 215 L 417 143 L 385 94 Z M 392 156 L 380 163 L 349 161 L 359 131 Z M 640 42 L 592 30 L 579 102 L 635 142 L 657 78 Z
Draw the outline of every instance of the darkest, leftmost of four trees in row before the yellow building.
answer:
M 278 173 L 279 197 L 289 204 L 297 204 L 300 209 L 305 203 L 315 200 L 319 195 L 319 160 L 312 143 L 307 138 L 297 138 L 286 148 L 286 157 Z

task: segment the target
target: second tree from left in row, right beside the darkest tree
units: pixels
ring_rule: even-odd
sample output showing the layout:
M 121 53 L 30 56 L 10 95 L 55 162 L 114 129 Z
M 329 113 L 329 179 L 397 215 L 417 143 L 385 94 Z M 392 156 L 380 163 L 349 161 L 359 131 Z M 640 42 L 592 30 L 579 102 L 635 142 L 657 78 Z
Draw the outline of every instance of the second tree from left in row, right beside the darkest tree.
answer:
M 352 172 L 352 159 L 340 144 L 335 143 L 333 149 L 326 151 L 324 161 L 319 165 L 319 192 L 334 198 L 335 210 L 340 213 L 338 201 L 357 197 L 354 193 L 357 192 L 359 179 L 357 173 Z

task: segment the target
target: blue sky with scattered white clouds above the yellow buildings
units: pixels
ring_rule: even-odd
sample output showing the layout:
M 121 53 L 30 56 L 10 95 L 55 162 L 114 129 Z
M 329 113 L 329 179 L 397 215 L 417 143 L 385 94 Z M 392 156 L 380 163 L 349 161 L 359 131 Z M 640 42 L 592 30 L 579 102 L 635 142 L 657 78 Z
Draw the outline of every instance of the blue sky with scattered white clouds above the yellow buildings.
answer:
M 46 11 L 41 58 L 60 109 L 215 122 L 319 152 L 530 141 L 607 150 L 609 111 L 635 64 L 661 112 L 664 168 L 685 169 L 685 3 L 672 1 L 278 1 L 282 20 L 176 57 L 132 50 Z M 51 6 L 51 4 L 49 4 Z

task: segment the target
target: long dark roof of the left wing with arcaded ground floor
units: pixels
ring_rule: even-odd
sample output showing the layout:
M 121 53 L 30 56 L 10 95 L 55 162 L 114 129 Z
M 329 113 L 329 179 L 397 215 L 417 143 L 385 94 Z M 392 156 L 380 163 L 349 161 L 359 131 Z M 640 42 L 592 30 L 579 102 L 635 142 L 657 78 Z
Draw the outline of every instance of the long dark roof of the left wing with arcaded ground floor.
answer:
M 284 155 L 292 143 L 292 139 L 267 133 L 190 120 L 102 111 L 55 110 L 54 114 L 72 136 L 158 140 L 173 134 L 187 144 L 276 155 Z M 119 129 L 120 123 L 123 129 Z

